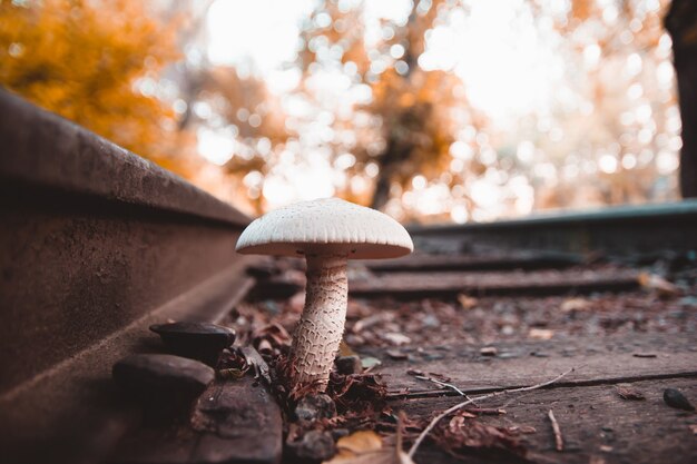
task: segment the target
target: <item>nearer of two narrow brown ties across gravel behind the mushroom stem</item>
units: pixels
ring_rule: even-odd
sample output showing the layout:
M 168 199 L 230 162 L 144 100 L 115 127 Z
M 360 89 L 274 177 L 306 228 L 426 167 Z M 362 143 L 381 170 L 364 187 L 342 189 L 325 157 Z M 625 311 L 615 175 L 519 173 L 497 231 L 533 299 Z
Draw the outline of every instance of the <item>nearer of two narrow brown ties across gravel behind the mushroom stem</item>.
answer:
M 459 293 L 489 294 L 565 294 L 636 288 L 638 274 L 626 269 L 539 270 L 513 273 L 397 273 L 353 279 L 348 293 L 355 297 L 434 296 Z

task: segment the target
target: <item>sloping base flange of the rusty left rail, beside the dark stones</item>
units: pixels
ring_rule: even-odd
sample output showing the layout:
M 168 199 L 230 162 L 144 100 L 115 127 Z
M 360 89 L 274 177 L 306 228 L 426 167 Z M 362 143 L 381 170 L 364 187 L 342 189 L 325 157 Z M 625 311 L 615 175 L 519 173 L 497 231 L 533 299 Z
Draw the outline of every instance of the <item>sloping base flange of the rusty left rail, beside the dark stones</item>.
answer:
M 252 286 L 243 258 L 99 343 L 0 394 L 0 461 L 104 462 L 140 422 L 136 404 L 111 382 L 111 366 L 132 353 L 164 353 L 148 327 L 176 320 L 217 322 Z

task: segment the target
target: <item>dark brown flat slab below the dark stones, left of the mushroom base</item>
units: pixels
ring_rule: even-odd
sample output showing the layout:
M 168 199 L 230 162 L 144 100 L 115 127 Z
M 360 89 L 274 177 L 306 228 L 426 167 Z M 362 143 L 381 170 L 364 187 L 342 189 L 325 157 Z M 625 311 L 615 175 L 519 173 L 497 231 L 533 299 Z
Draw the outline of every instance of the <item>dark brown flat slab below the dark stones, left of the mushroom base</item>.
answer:
M 141 427 L 109 460 L 114 464 L 274 464 L 283 446 L 281 408 L 254 378 L 217 382 L 198 399 L 192 424 Z

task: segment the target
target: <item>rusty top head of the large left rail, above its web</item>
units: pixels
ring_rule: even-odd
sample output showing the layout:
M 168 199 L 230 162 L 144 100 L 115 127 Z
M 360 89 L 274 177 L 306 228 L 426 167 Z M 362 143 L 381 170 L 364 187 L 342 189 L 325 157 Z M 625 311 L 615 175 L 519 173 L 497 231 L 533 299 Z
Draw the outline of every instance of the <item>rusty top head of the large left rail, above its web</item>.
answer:
M 0 177 L 244 226 L 176 175 L 0 89 Z

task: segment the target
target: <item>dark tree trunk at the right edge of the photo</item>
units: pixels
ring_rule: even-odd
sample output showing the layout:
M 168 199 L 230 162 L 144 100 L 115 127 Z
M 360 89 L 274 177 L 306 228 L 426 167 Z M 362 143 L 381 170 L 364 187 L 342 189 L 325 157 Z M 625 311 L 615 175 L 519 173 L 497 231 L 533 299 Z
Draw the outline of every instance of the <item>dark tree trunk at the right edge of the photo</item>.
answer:
M 673 0 L 665 26 L 673 39 L 683 119 L 680 194 L 697 197 L 697 1 Z

